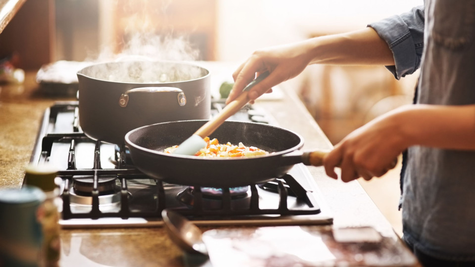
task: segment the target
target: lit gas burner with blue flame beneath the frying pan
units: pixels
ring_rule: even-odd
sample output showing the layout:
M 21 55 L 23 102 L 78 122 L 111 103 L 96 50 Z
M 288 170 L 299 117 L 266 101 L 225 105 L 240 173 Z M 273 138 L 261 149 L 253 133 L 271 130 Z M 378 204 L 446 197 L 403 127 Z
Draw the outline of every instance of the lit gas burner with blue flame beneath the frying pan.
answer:
M 231 189 L 236 190 L 233 190 L 232 193 Z M 249 186 L 230 188 L 231 207 L 242 208 L 249 206 L 251 196 L 249 191 Z M 190 186 L 178 193 L 177 198 L 182 203 L 192 207 L 195 203 L 196 195 L 201 195 L 198 199 L 202 201 L 202 205 L 206 209 L 219 210 L 223 208 L 223 192 L 221 188 L 201 187 L 201 192 L 195 192 L 194 188 Z

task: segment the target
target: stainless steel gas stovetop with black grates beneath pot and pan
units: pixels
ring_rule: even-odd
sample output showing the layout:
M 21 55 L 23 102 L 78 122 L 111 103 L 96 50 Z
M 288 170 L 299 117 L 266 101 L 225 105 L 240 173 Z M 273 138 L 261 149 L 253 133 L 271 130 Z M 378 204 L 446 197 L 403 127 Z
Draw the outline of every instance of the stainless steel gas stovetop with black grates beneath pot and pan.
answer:
M 212 101 L 211 116 L 224 103 Z M 277 125 L 255 105 L 230 118 Z M 174 210 L 201 225 L 329 224 L 332 216 L 303 164 L 284 177 L 235 188 L 193 188 L 149 178 L 125 146 L 95 141 L 81 130 L 78 102 L 56 102 L 45 111 L 31 163 L 49 163 L 61 178 L 63 227 L 149 227 Z

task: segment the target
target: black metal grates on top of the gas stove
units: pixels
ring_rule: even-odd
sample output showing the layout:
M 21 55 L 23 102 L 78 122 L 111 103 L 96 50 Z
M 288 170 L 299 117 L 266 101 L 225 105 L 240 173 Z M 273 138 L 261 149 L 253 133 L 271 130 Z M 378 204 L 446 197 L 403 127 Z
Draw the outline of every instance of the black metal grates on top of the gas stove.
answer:
M 57 122 L 58 115 L 61 112 L 73 113 L 72 121 L 69 128 L 64 126 L 58 127 Z M 243 114 L 240 115 L 241 117 Z M 69 120 L 69 119 L 68 119 Z M 64 130 L 66 129 L 66 130 Z M 69 130 L 68 130 L 69 129 Z M 87 137 L 78 125 L 78 103 L 77 102 L 58 102 L 51 106 L 45 112 L 41 130 L 38 134 L 37 144 L 32 154 L 31 162 L 39 163 L 41 161 L 49 161 L 51 156 L 51 150 L 53 144 L 61 142 L 69 145 L 69 151 L 67 151 L 67 168 L 58 172 L 58 177 L 63 179 L 63 188 L 61 198 L 62 205 L 62 219 L 99 219 L 99 218 L 145 218 L 145 219 L 161 219 L 161 212 L 164 209 L 175 210 L 176 212 L 191 218 L 192 220 L 205 220 L 208 218 L 217 218 L 222 220 L 223 218 L 248 218 L 255 216 L 292 216 L 292 215 L 314 215 L 320 213 L 320 208 L 317 201 L 313 198 L 313 195 L 305 190 L 299 182 L 291 175 L 287 174 L 282 178 L 277 178 L 264 184 L 252 184 L 250 188 L 250 199 L 247 207 L 236 208 L 233 203 L 232 194 L 229 188 L 221 188 L 222 195 L 219 201 L 220 207 L 210 209 L 203 203 L 206 201 L 203 192 L 199 186 L 194 186 L 192 190 L 192 206 L 184 208 L 169 205 L 169 198 L 167 196 L 167 190 L 164 186 L 164 182 L 161 180 L 155 180 L 155 184 L 152 183 L 153 193 L 156 197 L 151 203 L 152 210 L 140 210 L 132 207 L 130 202 L 129 184 L 131 180 L 136 179 L 150 179 L 142 174 L 139 170 L 128 165 L 127 153 L 125 146 L 122 145 L 118 151 L 118 160 L 115 168 L 103 168 L 101 165 L 101 144 L 100 141 L 95 141 Z M 77 146 L 79 143 L 91 143 L 94 144 L 94 156 L 92 168 L 81 168 L 77 162 Z M 117 154 L 116 154 L 117 155 Z M 74 185 L 73 177 L 75 176 L 91 176 L 93 178 L 93 188 L 91 191 L 91 209 L 89 212 L 74 212 L 71 209 L 71 194 L 70 190 Z M 98 181 L 100 177 L 116 177 L 119 184 L 119 203 L 118 211 L 102 211 L 100 209 L 100 192 L 98 190 Z M 186 188 L 186 187 L 185 187 Z M 258 189 L 259 188 L 259 189 Z M 260 192 L 259 190 L 274 191 L 278 195 L 278 207 L 277 208 L 261 208 Z M 263 192 L 263 191 L 261 191 Z M 295 197 L 297 201 L 305 203 L 306 205 L 298 206 L 297 208 L 291 208 L 287 205 L 289 197 Z

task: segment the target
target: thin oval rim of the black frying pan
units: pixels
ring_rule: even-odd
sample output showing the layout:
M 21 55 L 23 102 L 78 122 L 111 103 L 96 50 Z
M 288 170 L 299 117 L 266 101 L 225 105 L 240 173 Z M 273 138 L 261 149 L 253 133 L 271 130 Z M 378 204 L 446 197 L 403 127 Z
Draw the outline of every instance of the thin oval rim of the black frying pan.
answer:
M 219 160 L 224 160 L 224 161 L 229 161 L 229 160 L 233 160 L 233 161 L 245 161 L 245 160 L 255 160 L 255 159 L 259 159 L 259 158 L 268 158 L 268 157 L 272 157 L 272 156 L 280 156 L 280 155 L 284 155 L 284 154 L 287 154 L 287 153 L 290 153 L 290 152 L 293 152 L 295 150 L 300 150 L 300 148 L 303 147 L 303 144 L 304 144 L 304 139 L 302 137 L 302 135 L 298 134 L 298 133 L 295 133 L 294 131 L 291 131 L 291 130 L 287 130 L 287 129 L 284 129 L 282 127 L 278 127 L 278 126 L 273 126 L 273 125 L 267 125 L 267 124 L 262 124 L 262 123 L 255 123 L 255 122 L 243 122 L 243 121 L 225 121 L 225 122 L 232 122 L 232 123 L 242 123 L 242 124 L 254 124 L 254 125 L 260 125 L 260 126 L 266 126 L 266 127 L 271 127 L 271 128 L 276 128 L 276 129 L 280 129 L 280 130 L 283 130 L 283 131 L 286 131 L 286 132 L 289 132 L 291 134 L 294 134 L 295 136 L 298 137 L 299 139 L 299 143 L 291 148 L 288 148 L 288 149 L 285 149 L 285 150 L 281 150 L 281 151 L 277 151 L 277 152 L 272 152 L 272 153 L 269 153 L 267 155 L 262 155 L 262 156 L 256 156 L 256 157 L 238 157 L 238 158 L 225 158 L 225 157 L 222 157 L 222 158 L 210 158 L 210 157 L 198 157 L 198 156 L 189 156 L 189 155 L 178 155 L 178 154 L 170 154 L 170 153 L 165 153 L 165 152 L 161 152 L 161 151 L 158 151 L 158 150 L 153 150 L 153 149 L 149 149 L 149 148 L 145 148 L 143 146 L 140 146 L 140 145 L 137 145 L 136 143 L 132 142 L 130 140 L 130 135 L 131 134 L 134 134 L 135 132 L 141 130 L 141 129 L 144 129 L 144 128 L 150 128 L 150 127 L 153 127 L 153 126 L 156 126 L 156 125 L 164 125 L 164 124 L 170 124 L 170 123 L 181 123 L 181 122 L 207 122 L 209 120 L 183 120 L 183 121 L 173 121 L 173 122 L 162 122 L 162 123 L 155 123 L 155 124 L 150 124 L 150 125 L 145 125 L 145 126 L 142 126 L 142 127 L 139 127 L 139 128 L 136 128 L 134 130 L 131 130 L 129 131 L 124 139 L 125 139 L 125 143 L 129 146 L 133 146 L 135 149 L 139 149 L 140 151 L 142 152 L 147 152 L 147 153 L 150 153 L 150 154 L 155 154 L 155 155 L 162 155 L 162 156 L 167 156 L 167 157 L 172 157 L 172 158 L 185 158 L 185 159 L 193 159 L 193 160 L 203 160 L 203 161 L 219 161 Z

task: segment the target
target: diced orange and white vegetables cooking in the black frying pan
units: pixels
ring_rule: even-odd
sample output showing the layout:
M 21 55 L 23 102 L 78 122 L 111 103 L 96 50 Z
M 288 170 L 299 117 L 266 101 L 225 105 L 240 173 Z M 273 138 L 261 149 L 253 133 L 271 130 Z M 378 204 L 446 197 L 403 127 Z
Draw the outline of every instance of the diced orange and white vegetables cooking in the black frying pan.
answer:
M 199 157 L 255 157 L 260 155 L 267 155 L 269 152 L 259 149 L 255 146 L 245 146 L 241 142 L 238 145 L 233 145 L 230 142 L 226 144 L 220 144 L 218 139 L 209 139 L 208 136 L 204 137 L 206 141 L 206 148 L 201 148 L 195 156 Z M 163 152 L 172 153 L 177 149 L 178 145 L 174 145 L 166 148 Z

